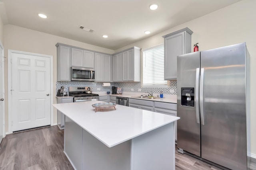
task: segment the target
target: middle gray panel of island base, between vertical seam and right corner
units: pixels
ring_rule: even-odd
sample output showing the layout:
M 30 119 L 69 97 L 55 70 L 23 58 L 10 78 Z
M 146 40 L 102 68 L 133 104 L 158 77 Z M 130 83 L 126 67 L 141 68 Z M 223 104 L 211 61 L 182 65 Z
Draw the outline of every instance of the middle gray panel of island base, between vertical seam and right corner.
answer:
M 130 141 L 109 148 L 83 130 L 83 170 L 130 170 Z

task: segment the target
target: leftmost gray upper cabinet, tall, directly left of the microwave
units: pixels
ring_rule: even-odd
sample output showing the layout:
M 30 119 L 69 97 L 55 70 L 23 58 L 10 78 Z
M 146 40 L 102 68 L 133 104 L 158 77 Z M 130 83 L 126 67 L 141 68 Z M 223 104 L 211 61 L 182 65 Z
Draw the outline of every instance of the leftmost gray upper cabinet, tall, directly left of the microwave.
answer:
M 57 43 L 57 81 L 70 81 L 71 47 Z

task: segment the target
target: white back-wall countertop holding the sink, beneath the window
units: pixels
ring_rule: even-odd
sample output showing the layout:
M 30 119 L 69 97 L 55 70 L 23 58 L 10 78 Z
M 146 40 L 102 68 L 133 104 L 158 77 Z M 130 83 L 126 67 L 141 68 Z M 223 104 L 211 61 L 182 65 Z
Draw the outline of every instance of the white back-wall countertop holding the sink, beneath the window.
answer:
M 150 100 L 156 102 L 166 102 L 166 103 L 174 103 L 177 104 L 177 95 L 169 95 L 170 97 L 164 98 L 134 98 L 134 96 L 140 96 L 141 94 L 99 94 L 99 96 L 116 96 L 116 97 L 123 97 L 123 98 L 133 98 L 133 99 L 140 99 L 140 100 Z

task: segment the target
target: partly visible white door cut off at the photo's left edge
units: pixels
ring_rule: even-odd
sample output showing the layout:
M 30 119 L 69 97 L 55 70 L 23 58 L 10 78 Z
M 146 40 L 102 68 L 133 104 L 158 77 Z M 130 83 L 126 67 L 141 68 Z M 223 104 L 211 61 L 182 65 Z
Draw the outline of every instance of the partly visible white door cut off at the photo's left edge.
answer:
M 4 132 L 4 48 L 0 43 L 0 143 L 5 136 Z

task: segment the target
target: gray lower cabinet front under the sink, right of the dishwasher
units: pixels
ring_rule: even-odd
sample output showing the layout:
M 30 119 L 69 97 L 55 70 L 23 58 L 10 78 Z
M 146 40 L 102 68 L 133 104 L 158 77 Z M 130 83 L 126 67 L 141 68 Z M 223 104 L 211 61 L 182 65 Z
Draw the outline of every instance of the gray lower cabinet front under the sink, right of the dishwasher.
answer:
M 129 98 L 129 107 L 134 107 L 137 109 L 148 110 L 148 111 L 154 111 L 153 106 L 154 106 L 153 101 Z

